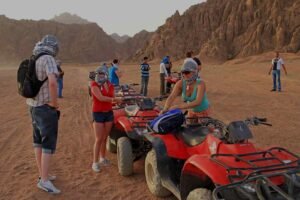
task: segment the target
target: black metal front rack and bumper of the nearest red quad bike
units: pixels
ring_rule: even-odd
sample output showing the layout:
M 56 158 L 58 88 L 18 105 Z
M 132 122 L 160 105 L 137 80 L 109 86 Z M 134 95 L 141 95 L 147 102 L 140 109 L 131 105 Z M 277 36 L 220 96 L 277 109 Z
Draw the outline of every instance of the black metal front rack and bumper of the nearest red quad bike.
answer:
M 289 160 L 279 158 L 276 153 L 289 156 Z M 242 162 L 246 167 L 229 166 L 220 160 L 225 157 Z M 247 159 L 247 157 L 252 158 Z M 222 192 L 230 189 L 236 189 L 250 200 L 300 200 L 300 157 L 284 148 L 274 147 L 247 154 L 214 154 L 211 160 L 226 169 L 230 181 L 230 184 L 217 186 L 214 189 L 213 198 L 216 200 L 220 199 Z M 265 166 L 258 165 L 264 161 L 274 162 Z M 247 173 L 249 171 L 251 173 Z M 284 184 L 275 185 L 271 181 L 275 177 L 282 177 L 285 180 Z

